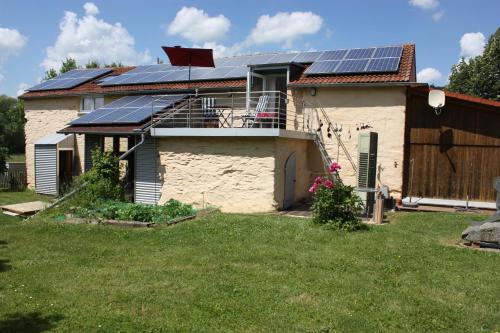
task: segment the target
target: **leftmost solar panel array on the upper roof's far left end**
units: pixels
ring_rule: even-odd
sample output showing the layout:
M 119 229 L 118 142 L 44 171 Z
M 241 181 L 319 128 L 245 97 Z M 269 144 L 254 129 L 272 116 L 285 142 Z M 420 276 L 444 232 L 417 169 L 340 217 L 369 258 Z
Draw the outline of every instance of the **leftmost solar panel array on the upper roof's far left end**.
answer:
M 112 69 L 110 68 L 73 69 L 69 72 L 59 74 L 53 79 L 37 84 L 36 86 L 29 88 L 28 91 L 69 89 L 87 81 L 93 80 L 96 77 L 107 74 L 111 71 Z

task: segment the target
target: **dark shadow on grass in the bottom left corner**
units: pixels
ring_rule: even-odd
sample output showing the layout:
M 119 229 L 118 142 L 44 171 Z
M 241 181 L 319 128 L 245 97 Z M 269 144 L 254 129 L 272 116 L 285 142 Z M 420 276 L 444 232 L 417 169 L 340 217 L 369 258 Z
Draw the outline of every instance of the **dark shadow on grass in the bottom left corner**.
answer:
M 45 332 L 62 320 L 62 315 L 42 315 L 40 312 L 12 313 L 0 320 L 0 332 Z

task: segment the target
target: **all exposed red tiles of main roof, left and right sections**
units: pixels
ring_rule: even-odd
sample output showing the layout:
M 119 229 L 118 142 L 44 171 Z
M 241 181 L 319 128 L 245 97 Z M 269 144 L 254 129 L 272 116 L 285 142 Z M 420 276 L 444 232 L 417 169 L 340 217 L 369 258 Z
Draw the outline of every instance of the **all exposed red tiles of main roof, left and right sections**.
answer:
M 350 85 L 350 84 L 380 84 L 380 83 L 414 83 L 415 74 L 415 45 L 405 44 L 401 55 L 401 62 L 397 72 L 372 73 L 372 74 L 334 74 L 334 75 L 305 75 L 304 69 L 293 79 L 290 87 L 315 86 L 315 85 Z M 212 81 L 148 83 L 133 85 L 99 85 L 104 77 L 116 76 L 128 72 L 135 67 L 114 68 L 107 75 L 91 80 L 71 89 L 29 91 L 21 95 L 22 99 L 41 97 L 81 96 L 86 94 L 140 94 L 140 93 L 166 93 L 171 91 L 198 89 L 244 89 L 246 79 L 219 79 Z

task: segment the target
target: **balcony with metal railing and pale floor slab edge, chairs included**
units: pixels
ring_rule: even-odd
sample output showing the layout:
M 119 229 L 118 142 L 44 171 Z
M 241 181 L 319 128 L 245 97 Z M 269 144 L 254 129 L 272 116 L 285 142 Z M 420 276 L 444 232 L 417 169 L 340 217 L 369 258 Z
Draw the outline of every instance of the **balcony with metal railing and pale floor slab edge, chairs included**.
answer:
M 161 101 L 162 95 L 155 96 Z M 155 109 L 154 102 L 153 108 Z M 302 100 L 280 91 L 188 95 L 152 116 L 151 135 L 283 136 L 310 139 L 311 112 Z

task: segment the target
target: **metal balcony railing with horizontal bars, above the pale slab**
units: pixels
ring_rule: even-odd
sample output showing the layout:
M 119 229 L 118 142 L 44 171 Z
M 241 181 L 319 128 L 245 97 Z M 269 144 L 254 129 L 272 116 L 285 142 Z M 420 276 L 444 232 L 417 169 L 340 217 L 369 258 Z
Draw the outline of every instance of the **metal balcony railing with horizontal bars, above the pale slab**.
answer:
M 164 96 L 155 96 L 161 101 Z M 160 104 L 160 102 L 159 102 Z M 153 110 L 156 110 L 153 102 Z M 188 95 L 176 107 L 152 115 L 153 128 L 278 128 L 309 131 L 302 100 L 280 91 Z

